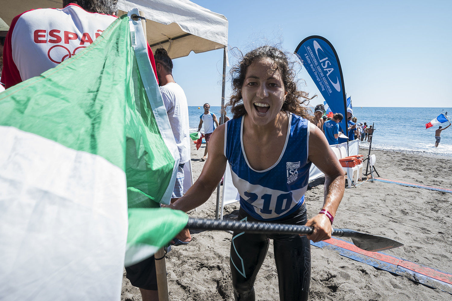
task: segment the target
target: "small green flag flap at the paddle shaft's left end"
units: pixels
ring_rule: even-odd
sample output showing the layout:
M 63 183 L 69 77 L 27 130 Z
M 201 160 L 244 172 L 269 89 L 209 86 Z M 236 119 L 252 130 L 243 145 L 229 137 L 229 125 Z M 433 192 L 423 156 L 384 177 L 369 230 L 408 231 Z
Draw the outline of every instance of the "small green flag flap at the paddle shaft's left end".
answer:
M 188 215 L 170 208 L 129 208 L 127 248 L 146 244 L 161 248 L 187 225 Z

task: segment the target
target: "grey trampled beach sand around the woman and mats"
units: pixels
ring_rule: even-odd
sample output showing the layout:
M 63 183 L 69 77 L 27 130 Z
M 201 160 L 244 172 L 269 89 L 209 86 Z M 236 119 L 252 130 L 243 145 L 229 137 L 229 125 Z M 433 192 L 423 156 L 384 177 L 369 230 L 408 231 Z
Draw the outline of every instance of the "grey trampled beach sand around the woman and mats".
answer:
M 366 149 L 360 152 L 367 156 Z M 202 170 L 204 148 L 192 146 L 193 177 Z M 382 178 L 436 187 L 452 187 L 452 160 L 408 153 L 372 151 Z M 308 218 L 323 203 L 323 178 L 306 193 Z M 405 245 L 384 253 L 452 273 L 452 194 L 382 182 L 346 189 L 334 227 L 385 236 Z M 215 218 L 216 192 L 190 216 Z M 227 205 L 225 218 L 234 218 L 238 203 Z M 188 245 L 166 256 L 168 289 L 174 301 L 234 300 L 229 268 L 231 234 L 193 232 Z M 345 238 L 345 240 L 348 240 Z M 337 251 L 311 246 L 310 300 L 452 300 L 452 294 L 415 283 L 403 276 L 343 257 Z M 279 300 L 273 245 L 255 283 L 256 300 Z M 451 291 L 452 293 L 452 291 Z M 141 300 L 124 277 L 122 301 Z

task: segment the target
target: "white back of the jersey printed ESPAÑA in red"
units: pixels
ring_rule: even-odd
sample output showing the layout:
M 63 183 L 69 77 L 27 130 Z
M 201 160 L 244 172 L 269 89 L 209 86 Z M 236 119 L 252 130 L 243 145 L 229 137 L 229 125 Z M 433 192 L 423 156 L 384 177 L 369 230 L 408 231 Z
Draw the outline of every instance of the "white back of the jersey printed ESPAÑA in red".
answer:
M 38 76 L 89 46 L 117 18 L 78 5 L 34 9 L 11 28 L 11 55 L 22 81 Z M 11 70 L 13 72 L 14 70 Z

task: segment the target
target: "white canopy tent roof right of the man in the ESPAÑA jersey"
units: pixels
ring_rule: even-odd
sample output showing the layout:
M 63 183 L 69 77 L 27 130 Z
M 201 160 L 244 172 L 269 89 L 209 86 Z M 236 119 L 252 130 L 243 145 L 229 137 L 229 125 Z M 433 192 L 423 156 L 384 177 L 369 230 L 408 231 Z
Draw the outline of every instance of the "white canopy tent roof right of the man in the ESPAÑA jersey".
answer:
M 172 59 L 227 45 L 228 21 L 188 0 L 118 0 L 119 15 L 137 7 L 145 13 L 152 51 L 163 47 Z

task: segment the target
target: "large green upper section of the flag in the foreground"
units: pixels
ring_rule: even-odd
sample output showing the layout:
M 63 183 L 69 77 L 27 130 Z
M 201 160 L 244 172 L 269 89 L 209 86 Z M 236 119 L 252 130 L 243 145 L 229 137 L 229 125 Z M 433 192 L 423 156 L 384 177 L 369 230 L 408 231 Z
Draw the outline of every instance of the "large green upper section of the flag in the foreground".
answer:
M 142 84 L 128 21 L 118 18 L 71 59 L 1 93 L 0 125 L 104 157 L 125 171 L 129 207 L 155 207 L 175 159 Z

